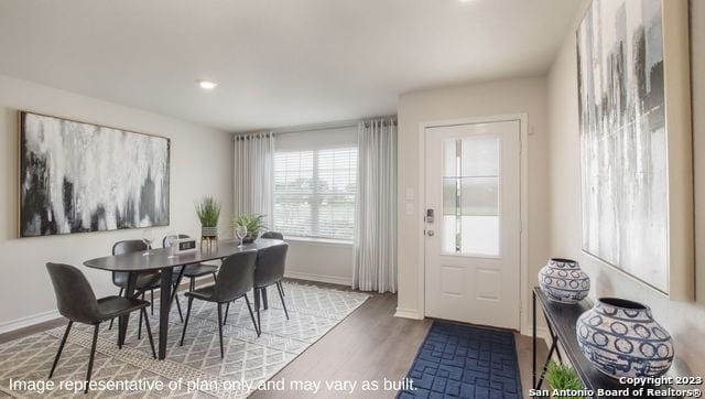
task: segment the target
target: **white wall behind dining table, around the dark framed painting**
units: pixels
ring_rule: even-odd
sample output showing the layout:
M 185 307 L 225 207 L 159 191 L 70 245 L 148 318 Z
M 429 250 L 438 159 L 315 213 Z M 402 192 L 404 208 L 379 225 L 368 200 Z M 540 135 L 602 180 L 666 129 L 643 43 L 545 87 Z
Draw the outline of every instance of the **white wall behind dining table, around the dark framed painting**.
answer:
M 229 134 L 133 108 L 0 75 L 0 332 L 55 316 L 54 292 L 44 263 L 107 256 L 115 241 L 141 230 L 18 239 L 18 109 L 165 136 L 171 141 L 171 227 L 193 236 L 200 225 L 194 201 L 215 195 L 224 203 L 221 225 L 232 214 L 232 141 Z M 98 295 L 117 290 L 105 271 L 82 266 Z M 29 317 L 29 319 L 28 319 Z M 34 317 L 34 319 L 32 319 Z

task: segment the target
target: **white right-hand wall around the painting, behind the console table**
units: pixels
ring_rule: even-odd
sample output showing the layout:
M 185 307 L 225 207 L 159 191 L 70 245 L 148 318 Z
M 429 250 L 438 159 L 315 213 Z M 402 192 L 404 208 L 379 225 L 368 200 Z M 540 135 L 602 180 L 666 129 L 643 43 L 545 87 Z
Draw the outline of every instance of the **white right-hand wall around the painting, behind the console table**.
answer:
M 698 296 L 705 289 L 705 3 L 692 2 L 693 48 L 693 114 L 695 144 L 696 205 L 696 276 Z M 654 317 L 671 333 L 675 345 L 675 374 L 705 375 L 705 306 L 696 303 L 669 301 L 662 294 L 622 274 L 614 268 L 588 257 L 581 250 L 581 174 L 578 141 L 577 68 L 575 36 L 566 37 L 549 75 L 550 122 L 550 202 L 551 254 L 579 260 L 590 276 L 590 296 L 616 295 L 651 306 Z M 701 155 L 701 157 L 698 157 Z

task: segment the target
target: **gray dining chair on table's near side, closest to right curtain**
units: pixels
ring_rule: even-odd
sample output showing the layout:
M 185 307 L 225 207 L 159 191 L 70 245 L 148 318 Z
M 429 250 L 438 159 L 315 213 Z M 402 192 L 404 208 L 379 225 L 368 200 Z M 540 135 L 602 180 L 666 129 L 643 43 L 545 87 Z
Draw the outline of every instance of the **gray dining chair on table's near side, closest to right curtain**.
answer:
M 289 320 L 289 311 L 286 310 L 286 303 L 284 303 L 284 287 L 282 285 L 288 251 L 289 245 L 284 242 L 262 248 L 257 255 L 257 266 L 254 267 L 254 309 L 257 309 L 257 323 L 260 326 L 260 331 L 262 330 L 260 322 L 260 298 L 262 291 L 269 285 L 276 284 L 279 299 L 282 301 L 284 314 L 286 315 L 286 320 Z

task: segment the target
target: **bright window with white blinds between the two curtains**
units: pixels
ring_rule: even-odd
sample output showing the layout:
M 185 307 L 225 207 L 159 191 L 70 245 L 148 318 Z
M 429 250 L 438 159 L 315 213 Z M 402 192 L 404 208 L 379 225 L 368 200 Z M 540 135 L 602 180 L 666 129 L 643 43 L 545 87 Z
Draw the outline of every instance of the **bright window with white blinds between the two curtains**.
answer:
M 351 241 L 357 147 L 354 143 L 329 144 L 333 148 L 326 148 L 325 143 L 306 145 L 306 140 L 302 140 L 296 145 L 278 142 L 274 229 L 288 236 Z

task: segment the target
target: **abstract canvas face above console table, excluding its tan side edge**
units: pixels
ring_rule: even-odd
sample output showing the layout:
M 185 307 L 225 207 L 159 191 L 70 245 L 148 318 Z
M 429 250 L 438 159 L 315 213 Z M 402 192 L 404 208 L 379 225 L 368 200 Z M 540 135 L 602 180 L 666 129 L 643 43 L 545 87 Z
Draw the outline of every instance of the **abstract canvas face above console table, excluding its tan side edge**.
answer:
M 660 0 L 594 0 L 577 31 L 583 249 L 668 292 Z

